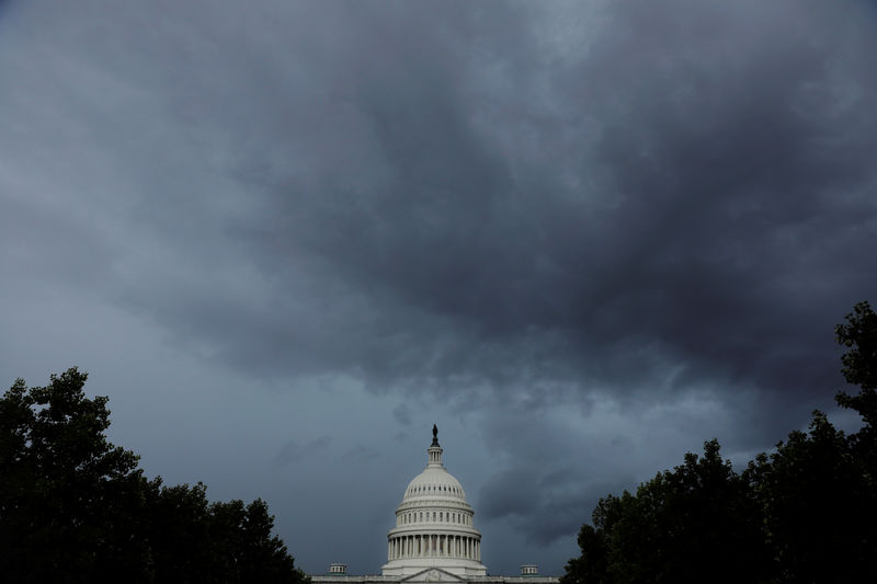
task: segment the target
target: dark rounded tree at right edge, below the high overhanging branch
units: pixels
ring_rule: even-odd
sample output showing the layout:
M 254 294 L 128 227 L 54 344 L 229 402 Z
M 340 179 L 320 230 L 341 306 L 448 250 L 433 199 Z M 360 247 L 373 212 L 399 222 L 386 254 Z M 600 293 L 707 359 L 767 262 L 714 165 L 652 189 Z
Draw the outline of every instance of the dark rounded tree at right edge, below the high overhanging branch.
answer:
M 744 474 L 761 506 L 775 582 L 877 580 L 866 518 L 874 494 L 861 462 L 821 412 L 808 433 L 793 432 L 750 462 Z

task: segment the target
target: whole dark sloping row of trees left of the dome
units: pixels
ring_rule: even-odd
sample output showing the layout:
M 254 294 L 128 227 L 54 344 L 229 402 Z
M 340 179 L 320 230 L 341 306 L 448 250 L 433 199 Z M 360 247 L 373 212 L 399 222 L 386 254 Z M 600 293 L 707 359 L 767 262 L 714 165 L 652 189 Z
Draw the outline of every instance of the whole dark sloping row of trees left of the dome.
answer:
M 145 478 L 106 439 L 107 399 L 86 398 L 86 378 L 19 379 L 0 400 L 0 582 L 308 581 L 262 500 Z

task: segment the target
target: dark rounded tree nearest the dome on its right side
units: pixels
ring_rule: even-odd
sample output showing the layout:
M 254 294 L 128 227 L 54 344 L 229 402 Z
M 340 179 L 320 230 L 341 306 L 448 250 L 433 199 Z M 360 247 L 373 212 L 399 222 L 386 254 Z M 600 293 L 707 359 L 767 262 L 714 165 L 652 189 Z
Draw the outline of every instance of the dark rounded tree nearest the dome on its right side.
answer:
M 758 582 L 767 562 L 759 519 L 745 481 L 709 440 L 636 494 L 602 499 L 563 583 Z

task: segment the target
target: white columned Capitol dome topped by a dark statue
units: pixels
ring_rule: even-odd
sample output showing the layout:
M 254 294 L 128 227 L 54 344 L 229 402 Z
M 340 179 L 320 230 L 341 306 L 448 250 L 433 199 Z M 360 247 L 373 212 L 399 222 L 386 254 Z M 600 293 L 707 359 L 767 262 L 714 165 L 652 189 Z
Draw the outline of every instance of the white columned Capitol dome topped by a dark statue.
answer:
M 396 508 L 396 527 L 387 535 L 384 575 L 407 576 L 440 568 L 462 576 L 483 576 L 481 533 L 466 492 L 442 463 L 438 430 L 432 428 L 426 468 L 414 477 Z

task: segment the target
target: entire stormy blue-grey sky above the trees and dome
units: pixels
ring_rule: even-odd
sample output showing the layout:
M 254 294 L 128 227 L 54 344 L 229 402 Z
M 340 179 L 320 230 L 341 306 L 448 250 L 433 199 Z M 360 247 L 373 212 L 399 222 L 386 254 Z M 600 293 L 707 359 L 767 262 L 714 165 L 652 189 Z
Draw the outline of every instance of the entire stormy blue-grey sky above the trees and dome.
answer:
M 379 573 L 438 426 L 492 574 L 738 468 L 877 301 L 877 4 L 0 1 L 0 381 Z

